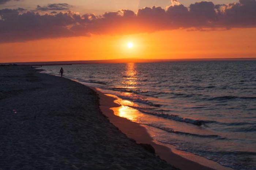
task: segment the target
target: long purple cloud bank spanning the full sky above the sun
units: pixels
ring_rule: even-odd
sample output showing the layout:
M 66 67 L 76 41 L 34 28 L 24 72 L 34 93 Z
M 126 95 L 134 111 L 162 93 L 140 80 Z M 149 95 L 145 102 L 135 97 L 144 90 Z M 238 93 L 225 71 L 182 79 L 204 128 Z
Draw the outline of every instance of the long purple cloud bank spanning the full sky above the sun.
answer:
M 255 27 L 256 0 L 217 5 L 201 1 L 189 7 L 173 0 L 167 9 L 146 7 L 136 13 L 122 9 L 100 16 L 80 15 L 72 11 L 42 15 L 38 12 L 24 12 L 22 8 L 0 10 L 1 43 L 91 34 L 137 34 L 179 28 L 211 30 Z

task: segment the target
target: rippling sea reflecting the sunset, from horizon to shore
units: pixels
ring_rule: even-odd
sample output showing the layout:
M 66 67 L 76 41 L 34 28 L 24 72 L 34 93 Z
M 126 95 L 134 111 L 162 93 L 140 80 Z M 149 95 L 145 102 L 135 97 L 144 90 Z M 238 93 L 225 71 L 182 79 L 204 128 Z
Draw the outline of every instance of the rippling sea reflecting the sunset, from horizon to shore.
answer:
M 60 67 L 42 68 L 58 75 Z M 128 101 L 127 118 L 155 140 L 233 169 L 256 169 L 256 61 L 62 67 L 65 77 Z

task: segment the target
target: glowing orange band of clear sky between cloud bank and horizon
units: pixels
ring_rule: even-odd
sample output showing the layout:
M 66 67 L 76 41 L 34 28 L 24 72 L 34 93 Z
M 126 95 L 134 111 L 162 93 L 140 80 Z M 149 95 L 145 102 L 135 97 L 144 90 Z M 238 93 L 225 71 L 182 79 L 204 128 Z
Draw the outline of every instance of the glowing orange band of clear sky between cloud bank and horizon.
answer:
M 256 28 L 92 35 L 0 44 L 0 62 L 256 57 Z M 132 49 L 127 43 L 133 42 Z

